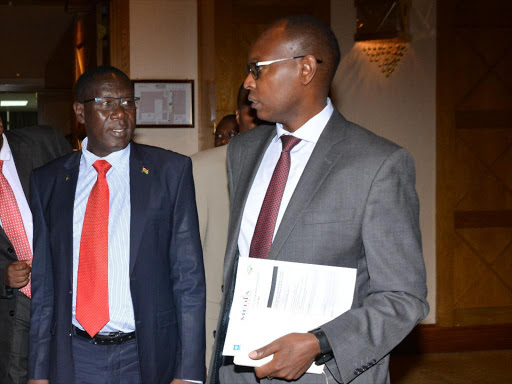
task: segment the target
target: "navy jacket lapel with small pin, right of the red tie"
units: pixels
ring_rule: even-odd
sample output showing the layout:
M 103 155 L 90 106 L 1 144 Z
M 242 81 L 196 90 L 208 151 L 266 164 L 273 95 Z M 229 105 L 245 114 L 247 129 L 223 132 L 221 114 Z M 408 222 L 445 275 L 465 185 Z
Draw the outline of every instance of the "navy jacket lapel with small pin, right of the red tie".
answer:
M 143 167 L 150 172 L 144 173 Z M 151 190 L 154 179 L 151 169 L 150 159 L 147 158 L 142 147 L 132 142 L 130 149 L 130 275 L 135 266 L 141 236 L 144 232 L 145 211 L 149 202 L 148 191 Z

